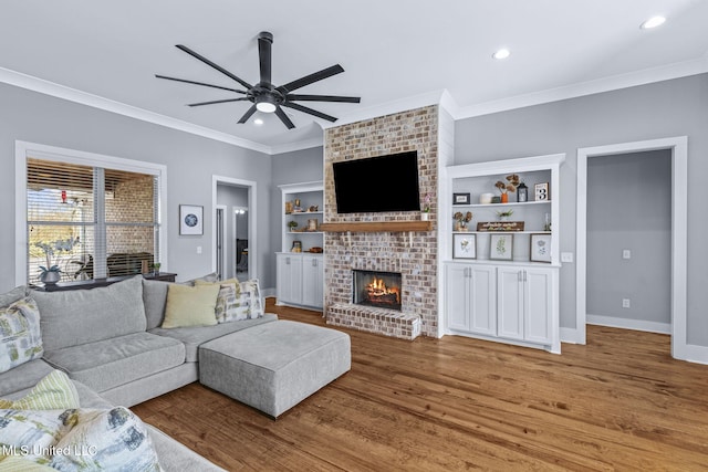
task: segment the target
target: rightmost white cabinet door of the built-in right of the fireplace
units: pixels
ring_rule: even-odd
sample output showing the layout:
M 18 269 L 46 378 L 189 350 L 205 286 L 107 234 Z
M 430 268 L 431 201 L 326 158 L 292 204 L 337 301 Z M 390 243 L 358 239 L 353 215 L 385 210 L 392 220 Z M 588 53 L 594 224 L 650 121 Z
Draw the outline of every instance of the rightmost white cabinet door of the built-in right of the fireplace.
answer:
M 525 269 L 524 338 L 532 343 L 551 344 L 552 276 L 550 269 Z

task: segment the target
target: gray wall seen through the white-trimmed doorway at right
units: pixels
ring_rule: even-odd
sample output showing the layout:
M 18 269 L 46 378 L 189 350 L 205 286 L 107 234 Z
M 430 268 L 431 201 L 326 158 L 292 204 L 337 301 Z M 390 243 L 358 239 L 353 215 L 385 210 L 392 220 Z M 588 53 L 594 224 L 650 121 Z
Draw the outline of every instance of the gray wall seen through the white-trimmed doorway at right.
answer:
M 623 259 L 623 250 L 632 259 Z M 591 157 L 589 315 L 670 324 L 670 150 Z

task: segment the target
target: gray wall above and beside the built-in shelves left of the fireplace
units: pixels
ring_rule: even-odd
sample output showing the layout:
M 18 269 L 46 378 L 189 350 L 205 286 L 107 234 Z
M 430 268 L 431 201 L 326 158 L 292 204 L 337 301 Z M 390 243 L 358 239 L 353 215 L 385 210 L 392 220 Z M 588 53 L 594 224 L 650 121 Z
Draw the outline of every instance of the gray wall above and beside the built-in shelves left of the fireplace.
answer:
M 301 183 L 320 181 L 324 177 L 324 151 L 322 146 L 310 149 L 283 153 L 273 156 L 273 174 L 271 189 L 271 237 L 270 245 L 273 249 L 269 268 L 275 272 L 275 252 L 282 249 L 281 208 L 282 196 L 278 186 L 285 183 Z M 273 285 L 275 286 L 274 282 Z

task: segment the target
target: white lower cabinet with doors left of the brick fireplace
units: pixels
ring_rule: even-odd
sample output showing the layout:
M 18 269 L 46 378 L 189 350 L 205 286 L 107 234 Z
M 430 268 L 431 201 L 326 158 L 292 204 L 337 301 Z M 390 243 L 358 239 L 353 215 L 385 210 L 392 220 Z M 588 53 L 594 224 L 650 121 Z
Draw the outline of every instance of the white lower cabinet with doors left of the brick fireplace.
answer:
M 322 254 L 279 252 L 277 304 L 321 310 L 324 306 L 324 261 Z

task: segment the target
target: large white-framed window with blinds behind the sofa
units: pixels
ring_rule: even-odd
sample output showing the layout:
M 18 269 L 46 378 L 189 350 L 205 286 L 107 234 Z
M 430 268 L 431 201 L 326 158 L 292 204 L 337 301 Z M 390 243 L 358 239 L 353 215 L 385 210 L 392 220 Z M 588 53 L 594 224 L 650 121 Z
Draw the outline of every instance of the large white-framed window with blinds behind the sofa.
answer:
M 24 157 L 23 283 L 39 282 L 41 268 L 54 265 L 61 281 L 71 282 L 133 275 L 160 261 L 164 170 L 101 156 L 62 158 L 27 149 Z

